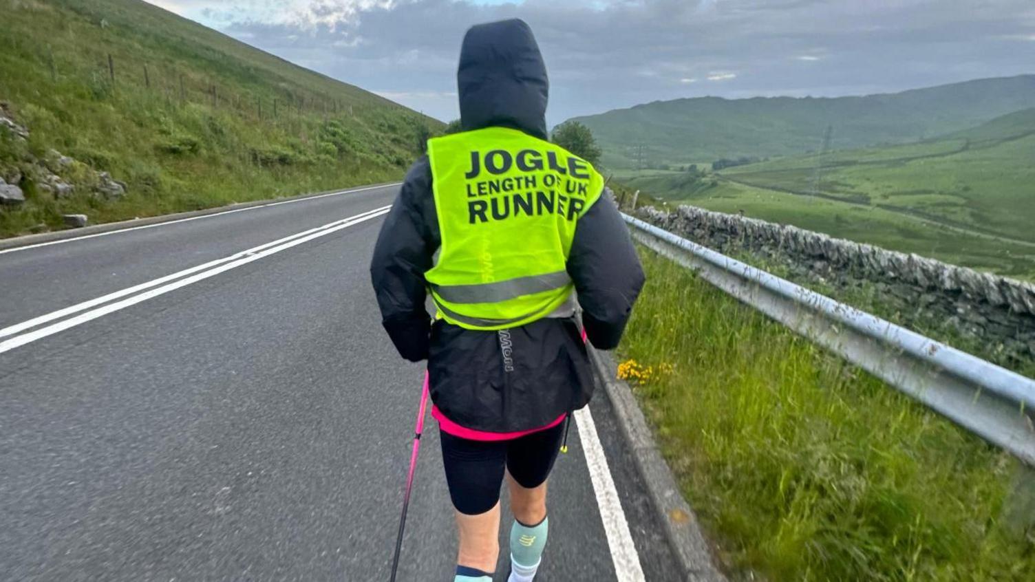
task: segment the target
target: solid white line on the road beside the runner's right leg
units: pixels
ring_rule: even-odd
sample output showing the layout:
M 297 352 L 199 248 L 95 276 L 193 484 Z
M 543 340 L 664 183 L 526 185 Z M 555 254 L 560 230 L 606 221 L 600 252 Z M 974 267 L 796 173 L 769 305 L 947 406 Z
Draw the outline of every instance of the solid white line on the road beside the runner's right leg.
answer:
M 615 489 L 615 479 L 608 468 L 608 458 L 600 446 L 600 437 L 596 434 L 596 425 L 593 424 L 593 415 L 588 406 L 575 410 L 575 426 L 579 427 L 579 440 L 582 441 L 586 455 L 586 465 L 589 467 L 596 503 L 600 508 L 600 519 L 608 535 L 608 547 L 611 548 L 611 560 L 615 564 L 618 582 L 644 582 L 640 555 L 632 543 L 629 524 L 625 520 L 618 490 Z

